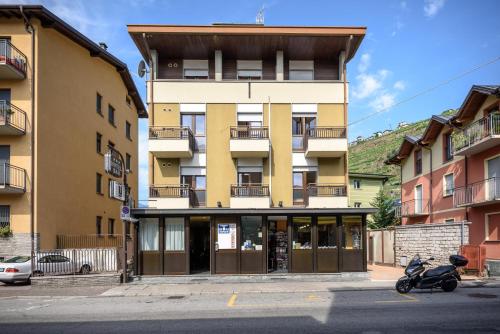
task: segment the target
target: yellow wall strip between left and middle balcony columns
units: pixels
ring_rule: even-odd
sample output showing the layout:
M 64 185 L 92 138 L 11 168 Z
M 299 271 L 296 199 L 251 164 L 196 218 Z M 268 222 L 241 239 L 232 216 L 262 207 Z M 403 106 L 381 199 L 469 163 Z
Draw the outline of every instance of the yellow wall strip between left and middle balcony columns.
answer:
M 236 183 L 236 161 L 229 151 L 229 129 L 237 124 L 235 104 L 208 104 L 207 128 L 207 207 L 217 201 L 229 207 L 231 184 Z

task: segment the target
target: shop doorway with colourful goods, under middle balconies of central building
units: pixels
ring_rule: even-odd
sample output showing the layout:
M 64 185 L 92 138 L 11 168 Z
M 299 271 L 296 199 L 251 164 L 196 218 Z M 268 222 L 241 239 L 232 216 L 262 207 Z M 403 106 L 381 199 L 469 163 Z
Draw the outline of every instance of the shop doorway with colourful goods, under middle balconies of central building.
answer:
M 267 236 L 267 271 L 287 273 L 289 268 L 287 217 L 269 217 Z

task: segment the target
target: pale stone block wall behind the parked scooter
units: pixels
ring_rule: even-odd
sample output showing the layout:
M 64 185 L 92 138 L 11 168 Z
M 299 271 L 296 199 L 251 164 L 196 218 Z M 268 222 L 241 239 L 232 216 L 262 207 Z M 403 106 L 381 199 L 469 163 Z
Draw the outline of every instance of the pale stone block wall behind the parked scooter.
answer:
M 433 265 L 450 264 L 449 257 L 458 254 L 460 245 L 469 243 L 469 224 L 418 224 L 396 227 L 396 265 L 402 256 L 408 262 L 419 254 L 421 258 L 434 257 Z M 462 231 L 463 228 L 463 231 Z

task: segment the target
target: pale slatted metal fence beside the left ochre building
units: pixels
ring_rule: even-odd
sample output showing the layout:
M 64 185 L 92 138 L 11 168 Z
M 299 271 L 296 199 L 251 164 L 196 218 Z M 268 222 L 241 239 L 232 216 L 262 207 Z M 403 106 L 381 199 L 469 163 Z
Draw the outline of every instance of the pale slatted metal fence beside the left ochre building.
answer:
M 34 276 L 117 272 L 121 267 L 117 248 L 52 249 L 35 253 Z

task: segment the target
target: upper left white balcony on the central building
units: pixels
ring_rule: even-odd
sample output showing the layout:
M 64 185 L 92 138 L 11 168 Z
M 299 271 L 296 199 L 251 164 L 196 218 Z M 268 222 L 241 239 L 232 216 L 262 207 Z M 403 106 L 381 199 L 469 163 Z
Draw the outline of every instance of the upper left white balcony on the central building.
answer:
M 149 151 L 157 158 L 192 158 L 194 150 L 195 140 L 189 128 L 149 128 Z

